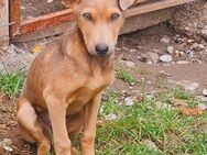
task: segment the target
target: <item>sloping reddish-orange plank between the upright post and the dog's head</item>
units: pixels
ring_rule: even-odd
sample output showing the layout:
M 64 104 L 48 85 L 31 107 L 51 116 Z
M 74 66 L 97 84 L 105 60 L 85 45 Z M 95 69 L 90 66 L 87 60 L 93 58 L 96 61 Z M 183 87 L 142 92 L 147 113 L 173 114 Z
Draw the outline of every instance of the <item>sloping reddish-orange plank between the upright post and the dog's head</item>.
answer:
M 43 30 L 50 26 L 55 26 L 74 20 L 74 14 L 70 9 L 58 11 L 55 13 L 42 15 L 32 20 L 21 22 L 20 33 L 26 34 L 37 30 Z

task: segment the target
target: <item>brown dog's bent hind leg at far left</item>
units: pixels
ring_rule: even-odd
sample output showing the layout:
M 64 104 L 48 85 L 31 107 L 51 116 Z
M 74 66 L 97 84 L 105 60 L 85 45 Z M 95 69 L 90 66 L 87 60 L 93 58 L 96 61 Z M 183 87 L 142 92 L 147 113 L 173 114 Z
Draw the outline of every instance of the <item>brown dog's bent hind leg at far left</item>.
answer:
M 43 126 L 37 121 L 37 115 L 31 102 L 22 98 L 18 103 L 18 123 L 23 139 L 39 143 L 37 155 L 45 155 L 51 150 L 51 143 L 43 133 Z

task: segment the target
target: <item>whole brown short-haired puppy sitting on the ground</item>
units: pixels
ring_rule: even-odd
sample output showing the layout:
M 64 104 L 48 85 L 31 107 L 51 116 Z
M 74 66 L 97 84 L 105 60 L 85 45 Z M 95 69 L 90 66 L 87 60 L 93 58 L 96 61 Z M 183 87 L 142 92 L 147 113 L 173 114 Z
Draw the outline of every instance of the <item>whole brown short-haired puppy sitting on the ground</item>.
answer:
M 113 81 L 113 51 L 122 11 L 134 0 L 64 0 L 77 27 L 48 46 L 32 63 L 18 103 L 18 122 L 37 155 L 51 150 L 72 155 L 69 135 L 83 129 L 83 155 L 95 155 L 96 120 L 102 90 Z M 50 120 L 50 121 L 48 121 Z

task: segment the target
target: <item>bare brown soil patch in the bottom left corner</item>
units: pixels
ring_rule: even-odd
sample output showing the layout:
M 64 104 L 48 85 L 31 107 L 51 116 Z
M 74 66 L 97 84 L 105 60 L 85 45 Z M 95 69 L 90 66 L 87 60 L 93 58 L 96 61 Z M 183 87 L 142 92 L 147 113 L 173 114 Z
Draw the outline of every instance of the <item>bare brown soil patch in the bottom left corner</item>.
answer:
M 22 141 L 17 124 L 17 100 L 0 95 L 0 154 L 34 155 L 35 145 Z

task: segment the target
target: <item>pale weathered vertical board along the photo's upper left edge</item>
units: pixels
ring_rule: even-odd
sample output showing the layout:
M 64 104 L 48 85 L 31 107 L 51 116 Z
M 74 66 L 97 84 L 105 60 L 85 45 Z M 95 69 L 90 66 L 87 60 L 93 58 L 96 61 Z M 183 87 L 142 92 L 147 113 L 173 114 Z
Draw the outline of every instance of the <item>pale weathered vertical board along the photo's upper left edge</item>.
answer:
M 8 0 L 0 0 L 0 48 L 9 44 Z

